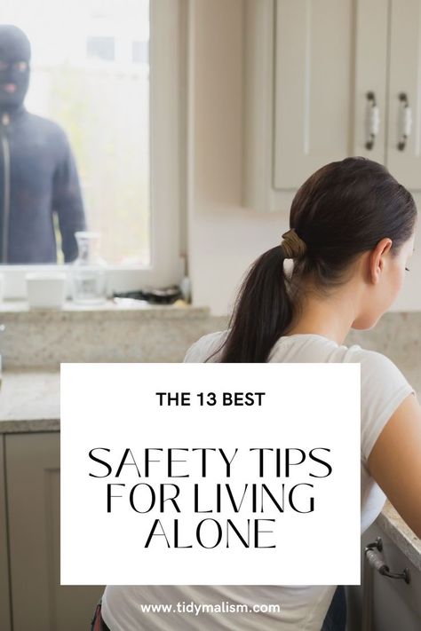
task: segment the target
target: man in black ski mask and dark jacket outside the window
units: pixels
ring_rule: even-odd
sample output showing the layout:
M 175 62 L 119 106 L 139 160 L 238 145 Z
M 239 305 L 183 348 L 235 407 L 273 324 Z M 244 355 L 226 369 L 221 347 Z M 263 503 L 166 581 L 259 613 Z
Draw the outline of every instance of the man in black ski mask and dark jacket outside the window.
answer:
M 85 228 L 83 201 L 68 138 L 23 105 L 31 55 L 20 28 L 0 25 L 0 263 L 57 263 L 57 214 L 66 262 Z

